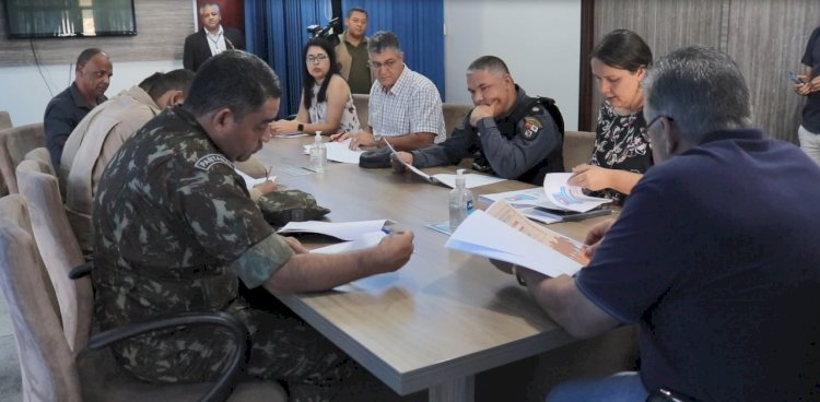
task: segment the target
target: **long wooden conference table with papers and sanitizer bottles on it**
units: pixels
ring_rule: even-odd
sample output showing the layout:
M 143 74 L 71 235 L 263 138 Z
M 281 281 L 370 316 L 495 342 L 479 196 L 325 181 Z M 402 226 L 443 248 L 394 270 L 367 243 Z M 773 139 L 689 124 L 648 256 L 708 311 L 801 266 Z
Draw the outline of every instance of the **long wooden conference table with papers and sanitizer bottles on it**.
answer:
M 313 193 L 332 222 L 388 218 L 415 235 L 415 252 L 397 272 L 330 292 L 281 300 L 399 394 L 429 389 L 431 401 L 472 401 L 477 373 L 550 351 L 574 340 L 543 312 L 513 275 L 487 259 L 444 248 L 447 236 L 424 227 L 447 220 L 449 188 L 411 173 L 329 162 L 323 174 L 292 176 L 307 166 L 312 138 L 273 139 L 257 153 L 277 182 Z M 453 166 L 424 169 L 453 173 Z M 531 187 L 503 181 L 473 193 Z M 576 239 L 605 218 L 550 227 Z

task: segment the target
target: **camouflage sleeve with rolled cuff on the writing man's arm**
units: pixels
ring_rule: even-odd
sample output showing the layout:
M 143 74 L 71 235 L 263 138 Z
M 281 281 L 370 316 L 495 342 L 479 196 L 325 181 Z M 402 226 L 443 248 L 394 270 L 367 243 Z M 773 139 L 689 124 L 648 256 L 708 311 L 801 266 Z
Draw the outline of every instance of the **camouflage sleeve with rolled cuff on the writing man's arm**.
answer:
M 178 211 L 197 241 L 235 269 L 248 287 L 259 286 L 293 255 L 265 221 L 227 159 L 191 169 L 176 194 Z

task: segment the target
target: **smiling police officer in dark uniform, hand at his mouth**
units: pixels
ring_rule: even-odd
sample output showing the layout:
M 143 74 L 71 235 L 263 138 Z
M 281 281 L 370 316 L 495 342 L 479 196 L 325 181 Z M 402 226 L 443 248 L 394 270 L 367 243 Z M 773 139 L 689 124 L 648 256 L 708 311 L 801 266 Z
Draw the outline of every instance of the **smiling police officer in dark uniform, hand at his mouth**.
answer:
M 541 185 L 551 172 L 564 172 L 563 118 L 550 98 L 534 98 L 513 82 L 503 60 L 482 56 L 467 69 L 467 88 L 476 108 L 446 141 L 398 157 L 415 167 L 458 164 L 506 179 Z M 393 161 L 394 168 L 403 164 Z

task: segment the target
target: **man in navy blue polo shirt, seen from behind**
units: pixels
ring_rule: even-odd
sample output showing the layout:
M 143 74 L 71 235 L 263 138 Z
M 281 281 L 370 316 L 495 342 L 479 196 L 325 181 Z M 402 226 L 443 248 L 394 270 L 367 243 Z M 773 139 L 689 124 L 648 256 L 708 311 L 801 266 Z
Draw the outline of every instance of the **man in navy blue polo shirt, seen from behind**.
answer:
M 643 81 L 657 165 L 588 235 L 575 277 L 518 274 L 567 332 L 640 331 L 640 373 L 575 380 L 548 401 L 820 398 L 820 167 L 751 128 L 737 64 L 676 50 Z

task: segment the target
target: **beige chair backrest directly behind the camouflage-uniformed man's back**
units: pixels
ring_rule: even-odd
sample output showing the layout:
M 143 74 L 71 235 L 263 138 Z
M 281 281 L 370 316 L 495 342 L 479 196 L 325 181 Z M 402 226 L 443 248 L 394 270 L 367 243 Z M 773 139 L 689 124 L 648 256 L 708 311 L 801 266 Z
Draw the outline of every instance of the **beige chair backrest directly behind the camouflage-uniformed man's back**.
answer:
M 91 332 L 93 295 L 87 276 L 74 281 L 68 277 L 84 259 L 66 217 L 57 177 L 35 161 L 23 161 L 16 170 L 34 238 L 60 305 L 66 340 L 71 350 L 79 351 Z

